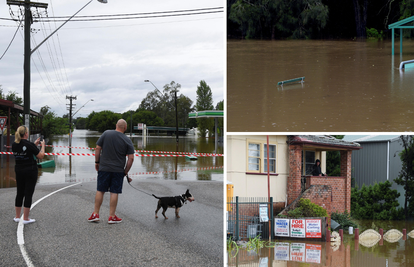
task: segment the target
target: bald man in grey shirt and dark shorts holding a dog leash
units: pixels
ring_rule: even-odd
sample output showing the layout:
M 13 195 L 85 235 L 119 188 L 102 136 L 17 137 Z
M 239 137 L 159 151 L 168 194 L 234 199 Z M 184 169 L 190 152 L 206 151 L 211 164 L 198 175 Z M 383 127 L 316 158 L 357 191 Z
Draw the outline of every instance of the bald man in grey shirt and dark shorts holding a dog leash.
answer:
M 115 215 L 118 194 L 122 193 L 124 176 L 128 175 L 134 162 L 134 145 L 124 134 L 126 129 L 126 121 L 120 119 L 116 123 L 115 130 L 105 131 L 96 142 L 95 169 L 98 172 L 98 185 L 95 195 L 95 209 L 88 219 L 89 222 L 99 221 L 99 210 L 104 194 L 108 191 L 110 192 L 108 223 L 122 222 L 122 219 Z M 128 157 L 128 161 L 125 165 L 126 157 Z

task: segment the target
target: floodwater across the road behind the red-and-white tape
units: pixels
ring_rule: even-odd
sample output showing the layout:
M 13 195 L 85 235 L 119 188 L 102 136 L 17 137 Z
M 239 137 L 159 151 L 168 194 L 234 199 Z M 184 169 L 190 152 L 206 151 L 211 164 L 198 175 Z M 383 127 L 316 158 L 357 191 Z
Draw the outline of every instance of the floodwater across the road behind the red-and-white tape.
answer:
M 96 146 L 100 134 L 86 130 L 75 130 L 73 133 L 72 153 L 94 153 L 94 150 L 85 149 Z M 149 151 L 176 151 L 175 137 L 132 137 L 136 150 Z M 68 136 L 51 138 L 47 153 L 69 153 Z M 180 137 L 179 151 L 213 153 L 214 139 Z M 219 143 L 218 153 L 223 153 L 223 146 Z M 149 153 L 148 153 L 149 154 Z M 14 156 L 1 156 L 0 188 L 15 187 Z M 39 169 L 39 184 L 53 184 L 65 182 L 92 182 L 96 181 L 95 158 L 93 156 L 45 156 L 44 160 L 55 160 L 55 168 Z M 223 169 L 199 170 L 207 167 L 223 166 L 223 157 L 201 157 L 190 161 L 185 157 L 135 157 L 134 164 L 129 172 L 132 179 L 167 179 L 167 180 L 216 180 L 223 181 Z M 176 170 L 179 170 L 177 173 Z M 151 172 L 151 173 L 149 173 Z M 144 174 L 143 174 L 144 173 Z

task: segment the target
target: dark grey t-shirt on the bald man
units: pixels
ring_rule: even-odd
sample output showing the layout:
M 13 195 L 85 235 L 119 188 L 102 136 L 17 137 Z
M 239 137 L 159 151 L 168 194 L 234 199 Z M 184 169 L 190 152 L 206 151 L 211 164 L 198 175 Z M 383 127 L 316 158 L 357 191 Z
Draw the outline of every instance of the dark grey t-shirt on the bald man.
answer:
M 116 130 L 106 130 L 96 144 L 102 147 L 100 171 L 124 172 L 126 156 L 135 152 L 131 139 Z

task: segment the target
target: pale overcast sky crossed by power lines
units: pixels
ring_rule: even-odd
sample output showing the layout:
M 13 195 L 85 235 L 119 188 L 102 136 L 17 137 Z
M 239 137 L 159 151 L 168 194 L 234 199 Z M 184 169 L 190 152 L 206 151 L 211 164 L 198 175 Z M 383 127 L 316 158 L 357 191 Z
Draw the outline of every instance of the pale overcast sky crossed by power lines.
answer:
M 49 17 L 71 16 L 88 0 L 44 0 Z M 10 19 L 9 6 L 0 4 L 0 56 L 18 22 Z M 77 16 L 98 16 L 224 7 L 222 0 L 108 0 L 93 1 Z M 17 6 L 12 6 L 18 17 Z M 32 11 L 35 11 L 32 8 Z M 39 9 L 39 12 L 44 10 Z M 215 9 L 217 11 L 217 9 Z M 221 9 L 224 11 L 224 8 Z M 189 12 L 187 12 L 189 13 Z M 171 14 L 171 13 L 169 13 Z M 178 13 L 180 14 L 180 13 Z M 42 17 L 45 17 L 43 12 Z M 20 17 L 21 18 L 21 17 Z M 80 18 L 80 17 L 78 17 Z M 35 22 L 32 39 L 38 44 L 62 22 Z M 32 55 L 31 109 L 48 105 L 58 116 L 74 101 L 76 117 L 92 111 L 136 110 L 142 99 L 165 84 L 181 84 L 180 93 L 196 102 L 196 90 L 205 80 L 213 92 L 214 106 L 224 99 L 224 12 L 191 16 L 103 21 L 69 21 Z M 0 60 L 3 93 L 23 98 L 23 28 Z M 35 44 L 32 43 L 32 48 Z

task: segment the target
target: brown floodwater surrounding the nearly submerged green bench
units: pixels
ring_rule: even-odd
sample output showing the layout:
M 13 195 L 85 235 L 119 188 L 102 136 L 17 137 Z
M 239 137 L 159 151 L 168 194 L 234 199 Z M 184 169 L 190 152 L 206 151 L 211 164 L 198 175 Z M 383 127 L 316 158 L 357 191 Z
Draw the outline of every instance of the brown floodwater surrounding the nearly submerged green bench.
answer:
M 235 41 L 227 46 L 227 130 L 413 131 L 414 41 Z M 279 81 L 305 77 L 303 84 Z

